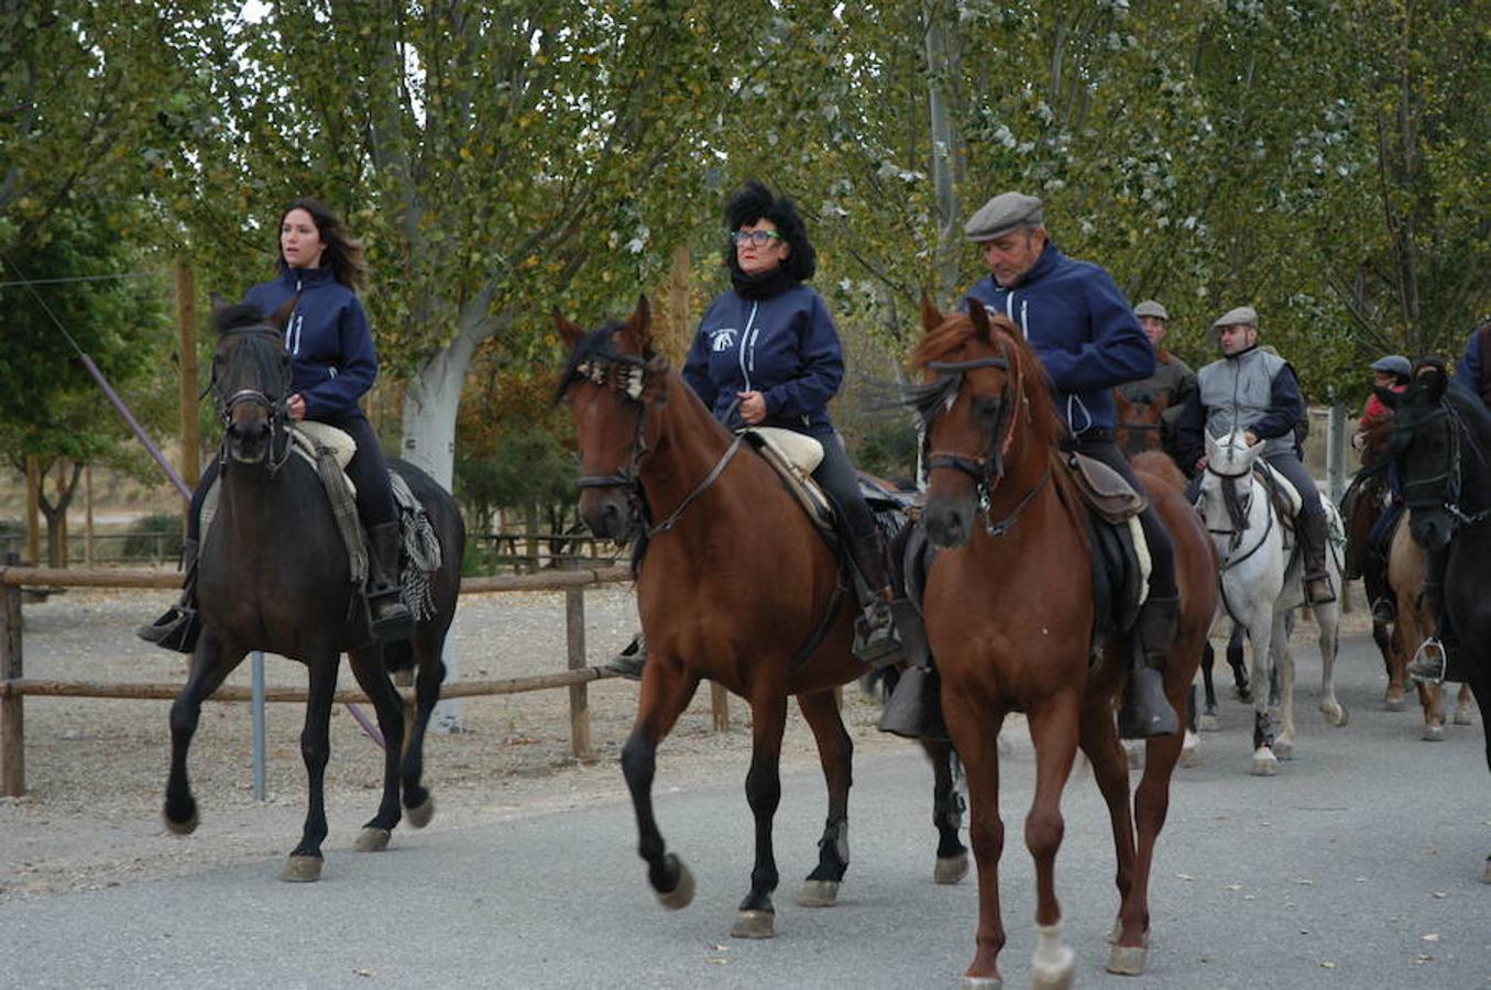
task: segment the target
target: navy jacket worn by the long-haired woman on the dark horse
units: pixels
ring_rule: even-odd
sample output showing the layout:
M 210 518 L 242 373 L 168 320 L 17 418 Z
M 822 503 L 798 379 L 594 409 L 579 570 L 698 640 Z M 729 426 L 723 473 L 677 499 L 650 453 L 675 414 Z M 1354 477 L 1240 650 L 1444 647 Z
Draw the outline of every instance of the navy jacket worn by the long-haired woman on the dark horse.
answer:
M 306 398 L 306 419 L 335 419 L 358 412 L 358 400 L 377 379 L 377 355 L 362 303 L 331 268 L 285 268 L 243 297 L 265 316 L 300 295 L 285 327 L 291 389 Z

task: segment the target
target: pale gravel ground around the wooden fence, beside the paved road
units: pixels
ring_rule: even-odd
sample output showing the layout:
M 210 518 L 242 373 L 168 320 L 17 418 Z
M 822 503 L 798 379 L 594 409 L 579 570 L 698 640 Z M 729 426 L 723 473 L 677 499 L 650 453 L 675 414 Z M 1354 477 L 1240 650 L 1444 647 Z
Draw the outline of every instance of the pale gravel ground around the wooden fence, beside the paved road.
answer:
M 168 592 L 70 589 L 27 602 L 25 675 L 183 683 L 186 658 L 133 635 L 136 625 L 171 599 Z M 605 586 L 586 592 L 584 604 L 589 662 L 599 665 L 629 640 L 635 602 L 629 586 Z M 564 593 L 464 596 L 455 635 L 462 677 L 561 671 Z M 304 686 L 304 668 L 271 656 L 267 680 Z M 249 665 L 228 683 L 248 684 Z M 343 671 L 341 684 L 352 683 L 350 671 Z M 616 762 L 635 714 L 637 686 L 619 678 L 595 681 L 589 699 L 596 756 L 589 765 L 570 754 L 567 690 L 462 699 L 464 731 L 431 735 L 425 750 L 425 781 L 438 807 L 431 827 L 625 799 Z M 857 687 L 845 687 L 844 704 L 859 756 L 905 750 L 905 741 L 874 729 L 878 707 Z M 25 699 L 28 793 L 0 798 L 0 902 L 289 851 L 306 811 L 303 707 L 268 705 L 268 801 L 261 804 L 252 793 L 249 707 L 204 705 L 191 751 L 201 826 L 185 838 L 170 835 L 160 816 L 170 760 L 168 708 L 167 701 Z M 811 734 L 796 710 L 789 711 L 783 768 L 811 768 L 817 762 Z M 659 753 L 659 790 L 744 783 L 750 751 L 744 702 L 732 698 L 731 716 L 729 732 L 713 732 L 710 692 L 701 687 Z M 376 810 L 380 766 L 373 742 L 337 707 L 327 768 L 328 848 L 349 847 Z M 748 814 L 744 796 L 741 814 Z M 394 841 L 417 842 L 419 836 L 406 825 Z

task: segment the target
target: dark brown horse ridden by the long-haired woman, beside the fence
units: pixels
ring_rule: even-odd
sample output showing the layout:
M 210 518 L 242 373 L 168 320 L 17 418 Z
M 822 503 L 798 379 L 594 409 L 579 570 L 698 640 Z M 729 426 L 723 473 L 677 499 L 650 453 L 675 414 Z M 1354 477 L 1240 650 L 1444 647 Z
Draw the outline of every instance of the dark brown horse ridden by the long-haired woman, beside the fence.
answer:
M 276 313 L 283 327 L 288 312 Z M 318 880 L 327 838 L 324 775 L 337 668 L 346 652 L 352 672 L 373 701 L 385 738 L 383 799 L 362 827 L 356 848 L 388 845 L 400 822 L 400 784 L 410 823 L 422 826 L 434 801 L 420 784 L 429 713 L 440 698 L 440 652 L 455 616 L 465 529 L 455 499 L 419 468 L 394 461 L 423 504 L 443 562 L 429 576 L 434 614 L 416 622 L 409 643 L 391 644 L 388 659 L 417 663 L 414 726 L 406 740 L 403 705 L 385 665 L 385 647 L 368 632 L 361 589 L 350 578 L 347 549 L 316 468 L 289 449 L 285 400 L 289 356 L 280 330 L 250 306 L 215 307 L 219 338 L 212 361 L 212 394 L 222 419 L 218 510 L 201 537 L 197 599 L 203 623 L 191 672 L 171 705 L 171 769 L 166 784 L 166 825 L 197 827 L 197 801 L 186 777 L 186 753 L 201 702 L 249 650 L 265 650 L 306 665 L 310 698 L 300 737 L 310 805 L 283 880 Z

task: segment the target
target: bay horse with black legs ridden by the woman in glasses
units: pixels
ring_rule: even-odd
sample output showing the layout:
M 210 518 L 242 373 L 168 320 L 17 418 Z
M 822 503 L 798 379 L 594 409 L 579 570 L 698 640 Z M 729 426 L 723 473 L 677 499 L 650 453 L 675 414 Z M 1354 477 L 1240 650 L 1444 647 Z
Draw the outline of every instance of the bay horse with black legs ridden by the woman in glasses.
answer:
M 789 696 L 813 731 L 829 795 L 819 862 L 799 904 L 835 904 L 848 866 L 853 744 L 833 689 L 866 671 L 850 652 L 859 610 L 845 599 L 836 556 L 777 473 L 743 449 L 653 353 L 646 297 L 626 324 L 587 334 L 558 313 L 556 322 L 571 352 L 558 394 L 580 438 L 580 516 L 599 537 L 647 537 L 637 565 L 647 665 L 637 722 L 622 750 L 647 880 L 666 908 L 693 899 L 693 875 L 658 829 L 652 784 L 659 742 L 708 678 L 751 710 L 746 798 L 756 822 L 756 860 L 732 935 L 769 938 L 778 881 L 772 819 Z M 933 807 L 956 807 L 951 777 L 941 769 L 947 745 L 926 745 L 939 768 Z M 948 875 L 948 868 L 966 863 L 957 816 L 936 819 L 936 872 L 956 881 L 962 872 Z

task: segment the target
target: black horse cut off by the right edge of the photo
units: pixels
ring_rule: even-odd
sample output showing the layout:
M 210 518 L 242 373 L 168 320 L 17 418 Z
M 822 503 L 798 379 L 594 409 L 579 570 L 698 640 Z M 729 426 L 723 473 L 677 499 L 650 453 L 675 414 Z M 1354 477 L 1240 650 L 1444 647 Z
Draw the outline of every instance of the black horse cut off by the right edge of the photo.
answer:
M 1460 640 L 1466 683 L 1491 711 L 1491 412 L 1451 388 L 1445 365 L 1422 361 L 1400 395 L 1378 391 L 1396 410 L 1388 449 L 1403 483 L 1413 541 L 1443 555 L 1443 596 Z M 1491 729 L 1485 726 L 1487 766 Z M 1482 878 L 1491 883 L 1491 857 Z

